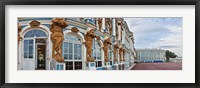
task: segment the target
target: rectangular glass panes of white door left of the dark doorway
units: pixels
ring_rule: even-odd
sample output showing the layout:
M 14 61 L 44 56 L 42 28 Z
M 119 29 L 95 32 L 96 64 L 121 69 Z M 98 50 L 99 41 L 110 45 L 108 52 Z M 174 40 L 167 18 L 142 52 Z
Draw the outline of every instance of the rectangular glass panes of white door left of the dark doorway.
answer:
M 24 40 L 24 58 L 33 58 L 33 40 Z

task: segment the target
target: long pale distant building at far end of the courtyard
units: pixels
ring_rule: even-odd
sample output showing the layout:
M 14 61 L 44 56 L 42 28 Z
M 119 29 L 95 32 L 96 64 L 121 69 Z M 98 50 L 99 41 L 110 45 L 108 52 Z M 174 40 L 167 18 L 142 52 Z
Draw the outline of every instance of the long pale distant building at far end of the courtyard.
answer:
M 165 50 L 162 49 L 137 49 L 136 62 L 165 62 Z

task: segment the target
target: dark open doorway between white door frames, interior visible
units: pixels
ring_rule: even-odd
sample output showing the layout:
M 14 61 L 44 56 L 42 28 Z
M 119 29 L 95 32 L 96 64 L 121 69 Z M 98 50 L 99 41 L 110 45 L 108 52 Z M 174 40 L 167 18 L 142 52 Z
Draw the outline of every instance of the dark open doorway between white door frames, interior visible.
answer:
M 44 70 L 46 63 L 46 45 L 37 45 L 37 69 Z

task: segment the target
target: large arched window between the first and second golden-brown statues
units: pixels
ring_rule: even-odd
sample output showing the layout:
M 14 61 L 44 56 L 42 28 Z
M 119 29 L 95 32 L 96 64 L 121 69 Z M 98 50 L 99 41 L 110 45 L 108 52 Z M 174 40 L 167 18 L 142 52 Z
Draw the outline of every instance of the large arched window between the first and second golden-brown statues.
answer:
M 66 70 L 82 69 L 82 44 L 78 35 L 66 34 L 62 51 L 66 61 Z

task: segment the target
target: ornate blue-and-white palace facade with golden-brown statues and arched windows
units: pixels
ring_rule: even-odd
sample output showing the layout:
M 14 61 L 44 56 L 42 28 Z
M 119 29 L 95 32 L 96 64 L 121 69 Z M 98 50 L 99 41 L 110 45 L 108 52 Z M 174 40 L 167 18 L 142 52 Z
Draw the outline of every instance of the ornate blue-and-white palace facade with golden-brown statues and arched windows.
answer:
M 125 70 L 135 58 L 123 18 L 18 18 L 18 70 Z

